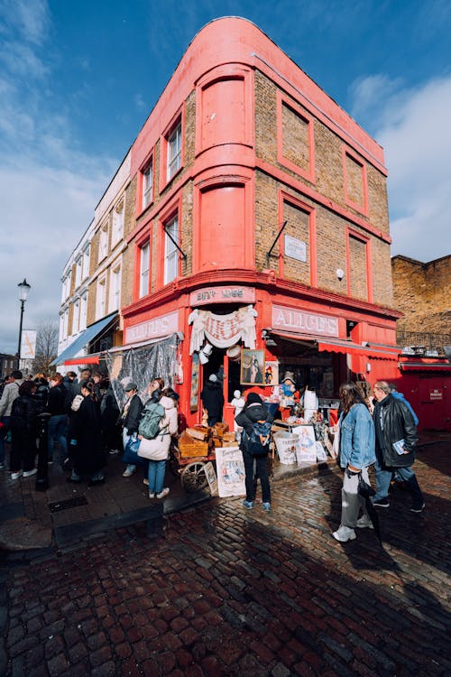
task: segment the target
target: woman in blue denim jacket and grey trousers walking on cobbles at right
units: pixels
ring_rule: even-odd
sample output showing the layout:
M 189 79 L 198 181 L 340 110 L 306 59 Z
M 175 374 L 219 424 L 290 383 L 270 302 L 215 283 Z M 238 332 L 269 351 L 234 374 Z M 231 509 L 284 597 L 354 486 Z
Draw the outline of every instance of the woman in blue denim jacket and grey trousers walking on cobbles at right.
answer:
M 354 541 L 354 527 L 372 528 L 364 505 L 358 494 L 359 475 L 369 483 L 368 468 L 376 460 L 373 418 L 364 397 L 354 383 L 340 386 L 342 414 L 340 416 L 340 466 L 345 468 L 341 490 L 341 524 L 332 535 L 336 541 Z M 364 515 L 357 519 L 360 508 Z

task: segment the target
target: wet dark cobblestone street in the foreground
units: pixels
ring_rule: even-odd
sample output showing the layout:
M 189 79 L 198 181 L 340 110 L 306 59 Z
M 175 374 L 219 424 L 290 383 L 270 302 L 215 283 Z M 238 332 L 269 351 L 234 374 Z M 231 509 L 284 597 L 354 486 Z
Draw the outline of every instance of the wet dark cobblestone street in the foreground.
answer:
M 212 499 L 51 557 L 4 561 L 0 673 L 451 675 L 449 444 L 419 454 L 426 509 L 400 488 L 337 543 L 341 474 L 273 483 L 272 512 Z

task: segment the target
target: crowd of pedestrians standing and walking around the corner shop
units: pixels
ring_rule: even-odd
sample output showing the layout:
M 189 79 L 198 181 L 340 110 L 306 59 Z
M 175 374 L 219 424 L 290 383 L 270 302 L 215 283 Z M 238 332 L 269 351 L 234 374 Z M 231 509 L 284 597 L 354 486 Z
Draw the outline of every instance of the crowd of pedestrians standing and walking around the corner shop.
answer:
M 166 464 L 171 440 L 179 433 L 179 395 L 155 377 L 140 395 L 133 380 L 123 385 L 124 403 L 116 403 L 106 376 L 86 368 L 48 380 L 43 374 L 23 379 L 14 371 L 5 379 L 0 398 L 0 469 L 5 468 L 5 442 L 11 444 L 11 478 L 28 478 L 37 472 L 36 456 L 42 443 L 40 416 L 48 419 L 47 459 L 59 461 L 70 471 L 69 482 L 88 479 L 91 486 L 105 482 L 108 454 L 122 452 L 124 478 L 143 470 L 143 483 L 150 498 L 164 498 Z M 258 482 L 262 508 L 271 510 L 268 473 L 272 413 L 259 394 L 250 392 L 244 400 L 235 391 L 235 431 L 244 459 L 244 507 L 252 509 Z M 142 399 L 143 397 L 143 399 Z M 392 481 L 401 482 L 410 493 L 410 510 L 420 513 L 425 504 L 412 465 L 418 442 L 418 418 L 394 385 L 377 381 L 373 396 L 352 382 L 339 389 L 340 410 L 336 433 L 339 436 L 338 462 L 344 470 L 342 510 L 337 541 L 356 538 L 355 527 L 373 528 L 368 508 L 387 508 Z M 220 379 L 211 375 L 201 393 L 208 425 L 222 421 L 224 404 Z M 143 401 L 144 400 L 144 401 Z M 376 491 L 371 505 L 362 487 L 370 485 L 369 468 L 374 466 Z M 371 487 L 370 487 L 371 488 Z M 361 514 L 362 513 L 362 514 Z M 360 515 L 360 516 L 359 516 Z

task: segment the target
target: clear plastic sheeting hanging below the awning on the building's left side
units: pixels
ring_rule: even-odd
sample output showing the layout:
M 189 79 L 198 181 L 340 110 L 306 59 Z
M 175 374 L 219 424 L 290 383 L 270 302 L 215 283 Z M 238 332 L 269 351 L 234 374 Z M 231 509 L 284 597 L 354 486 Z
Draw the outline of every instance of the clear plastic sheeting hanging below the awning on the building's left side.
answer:
M 177 374 L 179 335 L 140 348 L 107 352 L 105 362 L 115 399 L 122 408 L 124 387 L 133 381 L 143 403 L 149 399 L 148 385 L 153 378 L 163 378 L 165 387 L 174 387 Z

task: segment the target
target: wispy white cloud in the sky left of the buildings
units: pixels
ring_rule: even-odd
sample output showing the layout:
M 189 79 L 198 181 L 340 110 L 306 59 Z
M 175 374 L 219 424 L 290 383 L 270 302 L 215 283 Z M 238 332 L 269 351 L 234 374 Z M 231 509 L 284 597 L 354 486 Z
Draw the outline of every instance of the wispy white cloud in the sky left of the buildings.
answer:
M 80 153 L 70 118 L 49 107 L 51 68 L 40 56 L 51 24 L 47 3 L 0 0 L 0 12 L 8 44 L 0 79 L 0 352 L 14 354 L 17 284 L 25 277 L 32 285 L 24 329 L 58 320 L 63 266 L 117 161 Z

